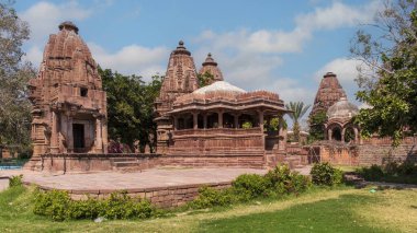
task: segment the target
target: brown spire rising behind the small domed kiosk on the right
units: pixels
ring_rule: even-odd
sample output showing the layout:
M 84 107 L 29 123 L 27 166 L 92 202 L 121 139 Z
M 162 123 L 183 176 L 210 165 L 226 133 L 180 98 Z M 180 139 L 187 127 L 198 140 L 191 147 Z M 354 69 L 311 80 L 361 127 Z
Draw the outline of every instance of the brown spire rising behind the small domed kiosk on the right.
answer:
M 327 72 L 318 86 L 316 98 L 309 116 L 318 112 L 326 113 L 327 109 L 338 102 L 341 97 L 346 97 L 345 90 L 341 88 L 339 80 L 333 72 Z

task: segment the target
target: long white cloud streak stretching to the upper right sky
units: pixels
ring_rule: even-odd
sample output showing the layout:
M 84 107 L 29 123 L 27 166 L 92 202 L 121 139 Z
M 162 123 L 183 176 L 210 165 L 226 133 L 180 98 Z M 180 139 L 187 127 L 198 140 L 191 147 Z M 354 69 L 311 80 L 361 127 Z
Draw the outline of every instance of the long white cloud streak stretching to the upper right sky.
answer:
M 371 1 L 360 7 L 333 2 L 328 8 L 317 8 L 312 13 L 298 15 L 295 19 L 294 30 L 289 32 L 239 30 L 216 34 L 213 31 L 205 31 L 195 42 L 211 44 L 216 49 L 233 48 L 257 54 L 300 53 L 303 50 L 303 45 L 313 37 L 314 32 L 369 23 L 380 5 L 379 1 Z

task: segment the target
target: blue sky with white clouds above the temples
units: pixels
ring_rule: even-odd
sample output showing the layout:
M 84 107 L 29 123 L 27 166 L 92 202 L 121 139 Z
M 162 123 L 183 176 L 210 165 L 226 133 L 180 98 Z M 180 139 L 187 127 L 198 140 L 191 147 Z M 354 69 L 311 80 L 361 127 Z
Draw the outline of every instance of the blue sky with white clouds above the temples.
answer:
M 49 34 L 72 21 L 102 68 L 123 74 L 165 74 L 182 39 L 196 69 L 207 53 L 225 81 L 247 91 L 275 92 L 313 104 L 323 75 L 335 72 L 356 101 L 359 61 L 350 42 L 371 23 L 379 0 L 18 0 L 29 22 L 25 59 L 38 67 Z

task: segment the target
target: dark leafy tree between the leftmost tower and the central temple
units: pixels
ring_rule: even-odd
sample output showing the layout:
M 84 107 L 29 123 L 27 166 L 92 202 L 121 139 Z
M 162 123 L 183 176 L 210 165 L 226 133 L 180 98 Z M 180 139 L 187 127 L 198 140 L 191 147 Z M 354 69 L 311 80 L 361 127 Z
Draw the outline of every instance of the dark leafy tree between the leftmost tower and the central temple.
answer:
M 108 93 L 109 136 L 115 141 L 126 143 L 133 150 L 135 141 L 140 148 L 155 145 L 156 124 L 154 102 L 159 95 L 162 78 L 154 75 L 149 83 L 142 77 L 123 75 L 110 69 L 99 69 Z

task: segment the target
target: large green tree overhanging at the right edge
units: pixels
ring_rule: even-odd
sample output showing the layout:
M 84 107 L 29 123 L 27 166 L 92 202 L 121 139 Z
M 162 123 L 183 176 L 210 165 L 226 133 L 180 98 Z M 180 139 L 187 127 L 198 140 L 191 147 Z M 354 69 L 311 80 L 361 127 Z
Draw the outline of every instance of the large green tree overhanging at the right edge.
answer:
M 351 47 L 367 67 L 357 79 L 357 98 L 371 106 L 354 120 L 363 137 L 387 136 L 394 145 L 405 132 L 417 132 L 416 7 L 416 0 L 386 1 L 375 24 L 359 30 Z

